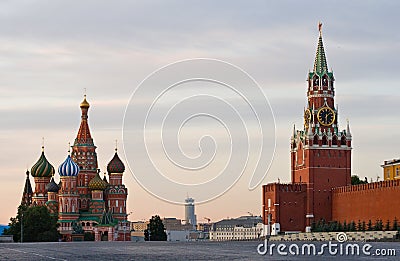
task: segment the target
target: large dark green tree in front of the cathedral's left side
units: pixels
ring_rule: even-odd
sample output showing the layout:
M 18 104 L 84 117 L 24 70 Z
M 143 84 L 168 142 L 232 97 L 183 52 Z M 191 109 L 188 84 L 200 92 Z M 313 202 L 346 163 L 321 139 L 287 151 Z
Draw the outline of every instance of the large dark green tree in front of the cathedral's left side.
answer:
M 58 241 L 60 235 L 57 231 L 57 217 L 50 216 L 47 207 L 18 207 L 17 216 L 10 218 L 10 228 L 4 231 L 4 235 L 13 235 L 15 242 L 21 241 L 21 220 L 24 242 Z

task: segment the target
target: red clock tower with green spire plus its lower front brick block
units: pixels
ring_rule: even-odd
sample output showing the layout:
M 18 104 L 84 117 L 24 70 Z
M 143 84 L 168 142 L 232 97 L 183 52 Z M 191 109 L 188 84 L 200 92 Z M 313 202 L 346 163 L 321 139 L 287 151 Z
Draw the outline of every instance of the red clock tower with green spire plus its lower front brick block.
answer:
M 313 222 L 332 221 L 332 191 L 351 184 L 349 123 L 339 128 L 335 78 L 328 69 L 322 24 L 314 67 L 307 75 L 304 126 L 293 128 L 290 141 L 291 182 L 263 186 L 265 231 L 311 231 Z

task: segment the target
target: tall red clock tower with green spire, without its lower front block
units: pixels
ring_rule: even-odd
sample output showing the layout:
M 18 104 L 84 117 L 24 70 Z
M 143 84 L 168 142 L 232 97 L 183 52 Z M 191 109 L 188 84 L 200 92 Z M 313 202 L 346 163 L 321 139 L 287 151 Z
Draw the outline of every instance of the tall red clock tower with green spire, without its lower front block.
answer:
M 351 184 L 349 123 L 339 130 L 335 107 L 335 78 L 328 70 L 322 41 L 322 24 L 313 71 L 307 78 L 304 128 L 293 130 L 291 171 L 293 183 L 307 184 L 306 227 L 313 221 L 332 218 L 332 188 Z

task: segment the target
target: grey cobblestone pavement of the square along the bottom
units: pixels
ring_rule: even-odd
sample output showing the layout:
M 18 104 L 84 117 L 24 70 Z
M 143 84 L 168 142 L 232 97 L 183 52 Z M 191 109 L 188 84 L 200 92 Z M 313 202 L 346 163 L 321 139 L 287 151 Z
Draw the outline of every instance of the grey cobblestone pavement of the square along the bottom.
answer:
M 277 253 L 260 255 L 257 246 L 263 242 L 72 242 L 72 243 L 3 243 L 0 244 L 0 260 L 320 260 L 321 255 L 281 256 Z M 284 242 L 284 251 L 296 244 L 300 251 L 303 244 L 313 243 L 317 252 L 328 242 Z M 337 243 L 337 242 L 335 242 Z M 271 244 L 271 243 L 270 243 Z M 350 242 L 349 242 L 350 244 Z M 366 243 L 357 243 L 360 249 Z M 398 260 L 400 243 L 369 243 L 370 256 L 329 254 L 327 248 L 324 259 L 342 260 Z M 395 249 L 396 256 L 378 257 L 376 249 Z M 295 248 L 293 248 L 295 249 Z M 292 250 L 293 250 L 292 249 Z M 338 248 L 338 250 L 340 250 Z M 343 248 L 345 253 L 345 245 Z

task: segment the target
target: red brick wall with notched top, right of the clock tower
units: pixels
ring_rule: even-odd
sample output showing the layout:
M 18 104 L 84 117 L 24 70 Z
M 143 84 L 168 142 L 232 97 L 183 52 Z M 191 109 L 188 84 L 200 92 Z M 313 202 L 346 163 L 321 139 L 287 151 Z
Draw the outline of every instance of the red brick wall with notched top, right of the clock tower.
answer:
M 333 189 L 332 220 L 366 223 L 400 220 L 400 180 L 388 180 Z

